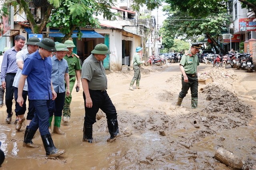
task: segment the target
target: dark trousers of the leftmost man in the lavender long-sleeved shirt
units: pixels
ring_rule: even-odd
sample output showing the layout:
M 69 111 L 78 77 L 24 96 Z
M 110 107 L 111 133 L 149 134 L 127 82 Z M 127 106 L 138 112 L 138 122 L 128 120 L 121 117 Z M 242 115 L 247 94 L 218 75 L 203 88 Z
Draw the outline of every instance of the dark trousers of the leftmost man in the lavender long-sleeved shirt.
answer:
M 16 73 L 7 73 L 5 77 L 5 82 L 6 82 L 6 92 L 5 92 L 5 104 L 6 104 L 6 112 L 7 113 L 12 113 L 12 100 L 13 100 L 13 95 L 14 95 L 14 86 L 13 80 L 15 77 Z

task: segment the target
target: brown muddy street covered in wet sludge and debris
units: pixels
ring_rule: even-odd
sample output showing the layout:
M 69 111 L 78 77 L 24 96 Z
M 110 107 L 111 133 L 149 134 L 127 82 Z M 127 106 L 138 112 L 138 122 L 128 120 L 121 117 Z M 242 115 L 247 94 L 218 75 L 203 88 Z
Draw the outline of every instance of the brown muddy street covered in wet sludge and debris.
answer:
M 181 90 L 179 63 L 141 67 L 141 89 L 133 91 L 128 90 L 133 70 L 106 71 L 120 130 L 112 143 L 107 142 L 102 111 L 93 125 L 93 143 L 82 142 L 84 100 L 82 89 L 73 90 L 71 121 L 60 127 L 65 135 L 52 135 L 55 146 L 66 150 L 58 158 L 46 158 L 39 131 L 33 139 L 39 148 L 22 147 L 25 127 L 16 131 L 15 117 L 6 124 L 6 107 L 0 108 L 1 149 L 6 154 L 0 169 L 230 170 L 213 158 L 220 147 L 256 169 L 255 72 L 203 63 L 198 68 L 197 109 L 191 109 L 190 91 L 182 106 L 175 107 Z

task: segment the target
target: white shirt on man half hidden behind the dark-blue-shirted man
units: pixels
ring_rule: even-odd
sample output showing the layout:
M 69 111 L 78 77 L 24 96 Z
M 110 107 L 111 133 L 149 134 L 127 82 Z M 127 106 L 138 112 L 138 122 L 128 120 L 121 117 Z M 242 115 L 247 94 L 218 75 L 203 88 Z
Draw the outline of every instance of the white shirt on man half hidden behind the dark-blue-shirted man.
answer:
M 17 53 L 16 55 L 16 62 L 18 63 L 18 61 L 22 61 L 24 63 L 25 59 L 29 56 L 29 52 L 28 52 L 28 48 L 24 49 L 24 50 L 21 50 Z M 12 86 L 18 88 L 18 84 L 19 84 L 19 81 L 20 81 L 20 76 L 21 76 L 21 72 L 22 72 L 22 69 L 18 68 L 18 71 L 14 77 L 14 80 L 13 80 L 13 84 Z M 24 88 L 23 90 L 25 91 L 28 91 L 28 82 L 27 82 L 27 79 L 25 81 L 25 84 L 24 84 Z

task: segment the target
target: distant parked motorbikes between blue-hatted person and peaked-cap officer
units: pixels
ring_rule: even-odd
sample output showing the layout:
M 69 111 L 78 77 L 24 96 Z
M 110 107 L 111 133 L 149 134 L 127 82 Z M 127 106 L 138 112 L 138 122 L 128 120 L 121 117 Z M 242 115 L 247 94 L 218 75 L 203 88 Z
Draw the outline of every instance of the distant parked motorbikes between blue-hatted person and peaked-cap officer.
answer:
M 157 66 L 162 66 L 163 64 L 166 63 L 178 63 L 181 59 L 180 55 L 177 55 L 177 53 L 175 53 L 174 55 L 171 56 L 166 56 L 166 57 L 154 57 L 154 56 L 150 56 L 150 59 L 148 59 L 148 61 L 145 62 L 145 66 L 150 65 L 157 65 Z

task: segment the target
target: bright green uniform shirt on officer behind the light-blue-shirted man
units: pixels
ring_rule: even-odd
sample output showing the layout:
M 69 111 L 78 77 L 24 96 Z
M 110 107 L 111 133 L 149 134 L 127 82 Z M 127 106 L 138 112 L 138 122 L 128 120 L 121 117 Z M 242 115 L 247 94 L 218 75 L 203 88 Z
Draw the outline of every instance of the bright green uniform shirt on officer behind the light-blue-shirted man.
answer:
M 76 70 L 81 70 L 80 59 L 77 58 L 73 52 L 69 57 L 66 54 L 64 59 L 68 62 L 68 74 L 75 76 Z

